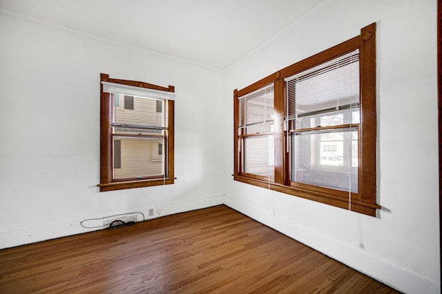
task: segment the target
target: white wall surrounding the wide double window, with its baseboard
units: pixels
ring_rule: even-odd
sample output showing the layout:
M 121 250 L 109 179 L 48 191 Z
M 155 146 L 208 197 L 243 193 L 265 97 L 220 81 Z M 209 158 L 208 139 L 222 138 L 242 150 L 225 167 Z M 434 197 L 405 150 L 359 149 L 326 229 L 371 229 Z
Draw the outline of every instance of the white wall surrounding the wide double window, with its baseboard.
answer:
M 232 92 L 377 23 L 376 218 L 234 182 Z M 330 0 L 225 74 L 225 203 L 406 293 L 439 293 L 436 1 Z

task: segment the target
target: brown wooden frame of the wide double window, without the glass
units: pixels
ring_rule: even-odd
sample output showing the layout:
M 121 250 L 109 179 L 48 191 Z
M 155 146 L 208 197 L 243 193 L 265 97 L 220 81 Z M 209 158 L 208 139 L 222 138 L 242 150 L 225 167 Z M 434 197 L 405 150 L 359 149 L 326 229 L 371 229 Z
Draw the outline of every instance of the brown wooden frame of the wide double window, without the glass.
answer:
M 360 64 L 360 111 L 358 137 L 358 192 L 351 193 L 318 187 L 315 185 L 301 185 L 290 181 L 289 150 L 287 150 L 287 136 L 284 129 L 285 109 L 285 82 L 284 78 L 293 76 L 311 67 L 315 67 L 338 56 L 359 49 Z M 275 149 L 275 176 L 260 178 L 242 172 L 242 154 L 239 149 L 242 138 L 238 134 L 238 98 L 253 91 L 274 84 L 274 149 Z M 361 29 L 361 34 L 354 36 L 343 43 L 308 57 L 302 61 L 289 65 L 260 81 L 253 83 L 242 90 L 233 91 L 233 128 L 234 128 L 234 159 L 233 179 L 258 187 L 280 191 L 293 196 L 314 200 L 317 202 L 349 209 L 367 216 L 376 216 L 376 23 Z

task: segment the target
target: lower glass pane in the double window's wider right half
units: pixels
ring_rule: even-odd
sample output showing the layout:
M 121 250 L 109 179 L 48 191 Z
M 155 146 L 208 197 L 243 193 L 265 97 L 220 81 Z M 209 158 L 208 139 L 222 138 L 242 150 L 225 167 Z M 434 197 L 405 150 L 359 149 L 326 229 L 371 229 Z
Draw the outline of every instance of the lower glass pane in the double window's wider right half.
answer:
M 291 180 L 357 193 L 357 133 L 354 128 L 348 128 L 340 132 L 322 134 L 293 134 Z

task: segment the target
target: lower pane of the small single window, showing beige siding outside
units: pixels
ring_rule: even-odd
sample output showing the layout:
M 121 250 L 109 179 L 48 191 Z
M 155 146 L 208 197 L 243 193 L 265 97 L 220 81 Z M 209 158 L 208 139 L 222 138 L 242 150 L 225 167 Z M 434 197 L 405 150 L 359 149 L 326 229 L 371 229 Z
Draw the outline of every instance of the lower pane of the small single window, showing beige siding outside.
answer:
M 114 162 L 114 179 L 164 174 L 164 156 L 162 149 L 159 149 L 164 145 L 164 138 L 117 137 L 113 141 L 114 144 L 119 142 L 113 148 L 113 158 L 119 158 L 119 162 Z M 116 164 L 119 165 L 115 166 Z

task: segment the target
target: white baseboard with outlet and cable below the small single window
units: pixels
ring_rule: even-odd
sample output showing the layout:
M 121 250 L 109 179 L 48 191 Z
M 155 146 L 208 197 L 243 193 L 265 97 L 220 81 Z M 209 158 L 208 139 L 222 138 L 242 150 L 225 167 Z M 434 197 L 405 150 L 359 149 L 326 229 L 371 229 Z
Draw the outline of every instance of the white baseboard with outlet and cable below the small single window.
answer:
M 143 207 L 131 211 L 109 213 L 106 216 L 91 216 L 90 218 L 82 220 L 72 220 L 39 227 L 30 227 L 16 231 L 0 232 L 0 249 L 66 237 L 68 235 L 77 235 L 79 233 L 86 233 L 89 231 L 97 231 L 99 229 L 106 229 L 106 227 L 102 226 L 103 220 L 108 217 L 111 218 L 115 215 L 124 216 L 137 213 L 137 221 L 142 221 L 160 218 L 162 216 L 168 216 L 175 213 L 213 207 L 223 203 L 224 196 L 220 195 L 209 198 L 155 205 L 153 207 L 153 216 L 149 216 L 148 213 L 148 210 L 152 207 Z M 144 218 L 142 215 L 144 215 Z M 81 224 L 83 224 L 84 227 Z

